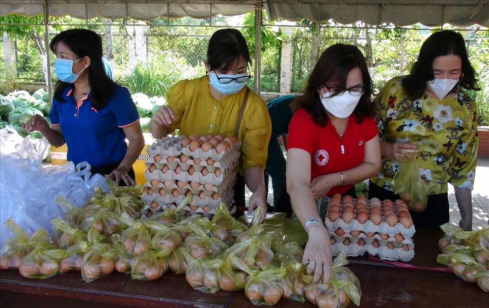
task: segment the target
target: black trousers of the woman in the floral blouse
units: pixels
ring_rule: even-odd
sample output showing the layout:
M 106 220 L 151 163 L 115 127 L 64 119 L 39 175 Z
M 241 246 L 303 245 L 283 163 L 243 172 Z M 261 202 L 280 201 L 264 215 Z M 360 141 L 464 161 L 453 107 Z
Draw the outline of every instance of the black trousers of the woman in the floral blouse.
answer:
M 377 197 L 378 199 L 389 199 L 395 201 L 400 197 L 382 187 L 378 187 L 372 181 L 368 186 L 368 199 Z M 428 195 L 426 209 L 421 213 L 409 211 L 413 219 L 414 226 L 422 229 L 440 229 L 440 226 L 450 221 L 450 206 L 448 204 L 448 193 L 438 195 Z

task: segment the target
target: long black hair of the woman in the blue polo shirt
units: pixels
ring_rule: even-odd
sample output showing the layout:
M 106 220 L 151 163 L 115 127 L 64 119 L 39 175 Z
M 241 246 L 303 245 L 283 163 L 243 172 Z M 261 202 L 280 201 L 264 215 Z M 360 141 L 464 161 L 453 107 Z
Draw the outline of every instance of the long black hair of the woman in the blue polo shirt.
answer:
M 88 71 L 88 83 L 92 93 L 92 107 L 102 109 L 105 107 L 107 98 L 114 96 L 116 87 L 114 81 L 105 73 L 102 62 L 102 38 L 95 32 L 87 29 L 69 29 L 60 32 L 49 43 L 52 52 L 56 52 L 56 44 L 62 42 L 74 54 L 82 58 L 90 57 Z M 63 98 L 63 91 L 70 83 L 58 80 L 55 85 L 54 98 L 59 101 L 66 101 Z

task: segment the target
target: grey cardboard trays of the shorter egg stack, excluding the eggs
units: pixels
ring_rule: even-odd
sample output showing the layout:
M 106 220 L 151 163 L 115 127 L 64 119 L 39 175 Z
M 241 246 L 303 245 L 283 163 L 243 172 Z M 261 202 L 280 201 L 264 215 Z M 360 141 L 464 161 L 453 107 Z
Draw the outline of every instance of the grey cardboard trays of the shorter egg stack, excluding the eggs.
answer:
M 356 200 L 354 200 L 355 203 Z M 370 217 L 370 201 L 367 200 L 367 210 Z M 341 204 L 341 209 L 343 209 L 343 204 Z M 338 218 L 334 222 L 331 222 L 328 219 L 328 212 L 324 218 L 324 224 L 330 233 L 330 238 L 333 237 L 336 240 L 331 247 L 333 255 L 337 255 L 340 252 L 344 252 L 346 256 L 356 257 L 363 255 L 364 253 L 368 253 L 372 256 L 378 256 L 382 260 L 401 260 L 407 262 L 414 257 L 414 242 L 413 235 L 416 232 L 414 225 L 411 225 L 409 228 L 405 228 L 401 223 L 395 224 L 393 227 L 389 226 L 388 223 L 385 222 L 385 216 L 382 215 L 382 222 L 377 226 L 371 220 L 367 220 L 365 223 L 361 224 L 358 222 L 357 218 L 357 210 L 354 212 L 354 219 L 352 219 L 349 223 L 345 223 L 341 218 Z M 410 217 L 411 219 L 411 217 Z M 412 220 L 411 220 L 412 221 Z M 338 236 L 335 231 L 336 229 L 341 228 L 345 234 L 342 236 Z M 351 236 L 349 232 L 351 231 L 360 231 L 358 236 Z M 373 236 L 367 236 L 366 233 L 375 233 Z M 382 239 L 378 233 L 388 234 L 389 238 Z M 396 234 L 402 234 L 404 239 L 401 242 L 398 242 L 394 236 Z M 348 245 L 343 244 L 345 238 L 350 240 Z M 365 241 L 364 245 L 359 245 L 358 241 L 363 238 Z M 379 247 L 374 247 L 372 242 L 377 240 L 380 244 Z M 391 242 L 394 248 L 388 248 L 387 244 Z M 403 245 L 404 248 L 403 248 Z M 392 247 L 392 245 L 391 245 Z M 408 248 L 405 250 L 405 248 Z

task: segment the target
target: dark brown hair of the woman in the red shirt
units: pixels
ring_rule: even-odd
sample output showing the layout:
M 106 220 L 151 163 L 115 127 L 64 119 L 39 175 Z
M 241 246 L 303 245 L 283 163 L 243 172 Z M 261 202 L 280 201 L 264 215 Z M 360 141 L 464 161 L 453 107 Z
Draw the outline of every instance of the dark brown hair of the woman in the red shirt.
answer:
M 295 112 L 299 108 L 305 109 L 317 125 L 324 127 L 328 123 L 328 115 L 317 89 L 324 84 L 331 84 L 332 81 L 335 81 L 339 87 L 346 87 L 348 74 L 356 68 L 362 71 L 365 93 L 360 98 L 353 114 L 358 118 L 358 122 L 362 122 L 364 116 L 373 116 L 375 105 L 371 99 L 372 79 L 368 73 L 365 57 L 357 47 L 345 44 L 335 44 L 324 50 L 307 80 L 303 95 L 297 96 L 292 103 L 292 110 Z

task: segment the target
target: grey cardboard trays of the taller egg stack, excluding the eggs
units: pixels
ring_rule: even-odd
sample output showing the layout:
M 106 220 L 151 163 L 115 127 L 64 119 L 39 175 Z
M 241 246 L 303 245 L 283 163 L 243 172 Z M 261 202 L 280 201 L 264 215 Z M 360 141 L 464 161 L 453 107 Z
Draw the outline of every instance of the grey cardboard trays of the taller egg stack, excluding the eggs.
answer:
M 215 149 L 210 149 L 209 151 L 204 152 L 202 151 L 202 148 L 197 148 L 195 151 L 191 151 L 189 150 L 188 146 L 181 146 L 181 140 L 184 137 L 185 136 L 169 136 L 158 139 L 152 145 L 148 145 L 146 151 L 149 158 L 145 162 L 145 165 L 149 168 L 152 164 L 154 164 L 156 169 L 153 172 L 146 169 L 144 173 L 147 182 L 144 185 L 146 189 L 143 193 L 143 200 L 145 202 L 143 213 L 146 213 L 148 210 L 156 213 L 168 207 L 176 208 L 176 205 L 185 199 L 185 194 L 188 194 L 189 190 L 191 191 L 192 195 L 194 195 L 194 198 L 192 202 L 184 208 L 184 211 L 192 211 L 194 213 L 197 212 L 205 215 L 214 214 L 215 207 L 217 207 L 221 201 L 225 202 L 228 208 L 231 208 L 233 202 L 232 197 L 234 195 L 232 186 L 236 179 L 234 168 L 238 163 L 241 142 L 236 142 L 221 153 L 217 153 Z M 200 159 L 201 161 L 199 164 L 195 164 L 194 160 L 190 159 L 185 163 L 182 163 L 179 159 L 182 153 L 189 157 Z M 161 156 L 161 160 L 156 162 L 154 157 L 158 154 Z M 170 157 L 173 158 L 171 162 L 168 160 Z M 212 165 L 207 164 L 206 160 L 208 158 L 214 160 Z M 168 169 L 165 168 L 165 165 L 168 166 Z M 177 166 L 181 167 L 181 171 L 178 174 L 175 172 Z M 195 169 L 195 172 L 192 175 L 187 172 L 191 166 L 193 166 Z M 204 167 L 208 170 L 208 174 L 205 176 L 201 173 Z M 216 176 L 214 174 L 214 171 L 217 168 L 221 170 L 220 176 Z M 162 169 L 167 169 L 167 171 L 163 173 Z M 155 187 L 153 187 L 151 184 L 153 179 L 160 181 Z M 168 180 L 173 180 L 173 184 L 171 184 L 169 187 L 165 187 L 164 181 Z M 176 181 L 188 181 L 189 183 L 182 188 L 178 188 Z M 197 189 L 192 189 L 190 186 L 191 182 L 200 183 L 201 186 Z M 207 189 L 204 188 L 204 185 L 207 183 L 212 184 L 210 189 L 207 185 Z M 147 194 L 146 190 L 148 188 L 152 188 L 154 191 L 152 195 Z M 164 189 L 166 191 L 164 196 L 159 193 L 160 189 Z M 173 190 L 175 189 L 177 189 L 179 192 L 177 196 L 173 195 Z M 201 191 L 205 191 L 205 198 L 198 197 Z M 218 193 L 219 198 L 212 198 L 213 193 Z M 153 201 L 156 201 L 160 207 L 156 209 L 151 208 L 150 204 Z M 209 205 L 211 210 L 207 212 L 204 211 L 203 207 L 205 205 Z M 195 206 L 197 206 L 198 209 L 193 211 L 191 207 L 195 208 Z

